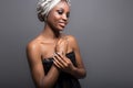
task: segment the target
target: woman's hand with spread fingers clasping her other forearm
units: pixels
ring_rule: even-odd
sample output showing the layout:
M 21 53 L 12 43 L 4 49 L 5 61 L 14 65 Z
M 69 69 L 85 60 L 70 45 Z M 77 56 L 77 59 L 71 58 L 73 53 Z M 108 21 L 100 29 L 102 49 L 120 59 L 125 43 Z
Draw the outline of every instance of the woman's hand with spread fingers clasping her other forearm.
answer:
M 62 54 L 55 53 L 53 59 L 53 64 L 63 72 L 71 73 L 74 67 L 72 62 Z

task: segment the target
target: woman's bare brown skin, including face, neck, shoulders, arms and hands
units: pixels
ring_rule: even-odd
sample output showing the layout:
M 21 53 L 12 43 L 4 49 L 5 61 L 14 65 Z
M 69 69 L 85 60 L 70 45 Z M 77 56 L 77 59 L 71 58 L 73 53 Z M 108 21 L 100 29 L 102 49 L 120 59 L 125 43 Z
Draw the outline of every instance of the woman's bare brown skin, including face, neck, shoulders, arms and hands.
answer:
M 48 15 L 44 30 L 27 46 L 31 75 L 37 88 L 52 88 L 58 80 L 60 70 L 69 73 L 75 78 L 85 77 L 86 72 L 76 40 L 72 35 L 60 33 L 68 24 L 69 13 L 70 8 L 65 1 L 58 3 Z M 75 54 L 76 67 L 65 56 L 70 52 Z M 42 59 L 48 57 L 53 57 L 54 62 L 45 75 Z

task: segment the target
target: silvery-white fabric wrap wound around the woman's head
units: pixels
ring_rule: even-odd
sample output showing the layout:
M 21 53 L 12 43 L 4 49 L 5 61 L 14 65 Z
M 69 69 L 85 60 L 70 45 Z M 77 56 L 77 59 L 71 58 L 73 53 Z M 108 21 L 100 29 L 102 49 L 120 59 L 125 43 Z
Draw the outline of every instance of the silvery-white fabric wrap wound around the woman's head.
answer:
M 49 12 L 62 0 L 38 0 L 37 11 L 40 21 L 45 21 Z M 70 6 L 70 0 L 65 0 Z

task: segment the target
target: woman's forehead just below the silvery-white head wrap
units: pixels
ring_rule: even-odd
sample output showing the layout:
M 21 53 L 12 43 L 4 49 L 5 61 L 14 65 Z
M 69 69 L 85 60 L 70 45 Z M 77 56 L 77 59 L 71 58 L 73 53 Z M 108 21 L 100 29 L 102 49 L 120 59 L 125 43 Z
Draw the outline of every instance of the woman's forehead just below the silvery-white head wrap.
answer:
M 61 1 L 59 2 L 54 8 L 54 10 L 57 9 L 64 9 L 65 11 L 70 11 L 70 7 L 65 1 Z

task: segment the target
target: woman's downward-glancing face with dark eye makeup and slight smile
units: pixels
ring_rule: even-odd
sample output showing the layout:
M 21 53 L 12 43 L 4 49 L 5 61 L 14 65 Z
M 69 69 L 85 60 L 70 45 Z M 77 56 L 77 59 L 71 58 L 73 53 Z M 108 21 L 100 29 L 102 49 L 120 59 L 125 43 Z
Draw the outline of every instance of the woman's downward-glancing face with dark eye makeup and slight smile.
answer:
M 70 8 L 65 1 L 59 2 L 48 14 L 47 23 L 55 31 L 62 31 L 68 24 Z

